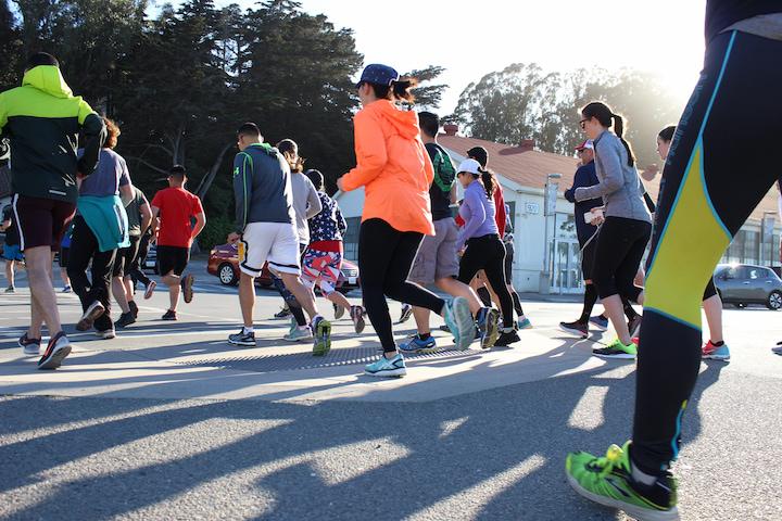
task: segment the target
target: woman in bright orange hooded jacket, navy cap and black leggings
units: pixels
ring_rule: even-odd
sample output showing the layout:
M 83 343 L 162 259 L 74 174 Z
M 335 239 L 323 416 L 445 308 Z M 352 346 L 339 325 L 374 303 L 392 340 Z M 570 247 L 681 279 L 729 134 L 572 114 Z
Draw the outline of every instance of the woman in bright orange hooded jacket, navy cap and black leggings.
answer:
M 429 198 L 434 169 L 420 139 L 417 114 L 396 106 L 396 102 L 414 101 L 411 89 L 415 85 L 388 65 L 364 68 L 356 86 L 362 110 L 353 119 L 357 165 L 337 181 L 342 191 L 365 189 L 358 269 L 364 305 L 383 351 L 379 360 L 365 368 L 373 377 L 407 372 L 394 342 L 386 296 L 442 315 L 459 350 L 475 339 L 475 321 L 465 298 L 446 302 L 407 281 L 424 236 L 434 233 Z

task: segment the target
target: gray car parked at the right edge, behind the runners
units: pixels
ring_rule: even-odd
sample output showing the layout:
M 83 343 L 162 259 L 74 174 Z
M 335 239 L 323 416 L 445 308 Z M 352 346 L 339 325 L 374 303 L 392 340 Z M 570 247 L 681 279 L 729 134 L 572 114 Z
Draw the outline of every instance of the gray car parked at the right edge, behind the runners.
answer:
M 764 304 L 769 309 L 782 308 L 782 279 L 764 266 L 720 264 L 715 269 L 715 285 L 722 302 L 742 308 Z

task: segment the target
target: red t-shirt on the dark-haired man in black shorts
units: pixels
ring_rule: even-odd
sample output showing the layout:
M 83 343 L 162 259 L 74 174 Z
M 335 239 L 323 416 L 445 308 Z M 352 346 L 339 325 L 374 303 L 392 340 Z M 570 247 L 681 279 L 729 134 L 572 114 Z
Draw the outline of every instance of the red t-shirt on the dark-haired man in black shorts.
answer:
M 184 188 L 166 188 L 155 193 L 152 206 L 160 208 L 159 246 L 190 247 L 192 225 L 190 219 L 203 213 L 201 200 Z

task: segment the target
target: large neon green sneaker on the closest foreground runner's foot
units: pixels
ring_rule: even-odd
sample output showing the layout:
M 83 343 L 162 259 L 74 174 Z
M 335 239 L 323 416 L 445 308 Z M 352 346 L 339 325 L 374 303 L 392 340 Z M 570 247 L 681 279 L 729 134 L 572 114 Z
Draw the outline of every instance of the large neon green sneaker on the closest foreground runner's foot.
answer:
M 605 458 L 570 453 L 565 469 L 576 492 L 606 507 L 623 510 L 639 521 L 678 521 L 677 483 L 670 473 L 652 485 L 632 479 L 630 443 L 608 447 Z

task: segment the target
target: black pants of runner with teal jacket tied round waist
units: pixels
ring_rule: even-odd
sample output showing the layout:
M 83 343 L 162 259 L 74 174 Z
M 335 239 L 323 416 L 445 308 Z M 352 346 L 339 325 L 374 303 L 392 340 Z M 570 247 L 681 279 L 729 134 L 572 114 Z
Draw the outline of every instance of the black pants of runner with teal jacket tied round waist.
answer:
M 94 321 L 94 327 L 99 331 L 112 329 L 114 326 L 110 314 L 109 287 L 111 285 L 115 254 L 116 250 L 101 252 L 98 247 L 98 239 L 87 226 L 84 217 L 77 215 L 74 218 L 67 274 L 74 293 L 81 301 L 84 310 L 87 310 L 87 307 L 94 301 L 100 302 L 105 307 L 105 313 Z M 91 281 L 87 278 L 87 267 L 90 260 L 92 260 L 92 267 L 90 268 Z

